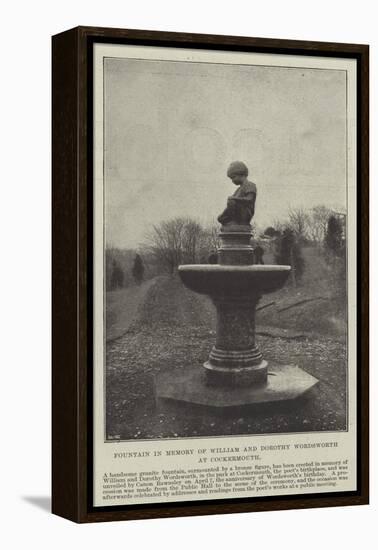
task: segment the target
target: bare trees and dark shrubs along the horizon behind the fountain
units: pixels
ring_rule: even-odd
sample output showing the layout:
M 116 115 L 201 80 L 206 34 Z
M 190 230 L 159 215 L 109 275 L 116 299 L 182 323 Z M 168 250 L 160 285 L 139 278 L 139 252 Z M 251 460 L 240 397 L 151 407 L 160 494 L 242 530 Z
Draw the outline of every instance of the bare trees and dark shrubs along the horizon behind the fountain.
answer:
M 252 229 L 255 246 L 262 252 L 269 247 L 275 263 L 292 266 L 294 285 L 300 284 L 306 267 L 303 247 L 319 247 L 330 262 L 341 260 L 342 264 L 345 259 L 345 217 L 323 205 L 310 210 L 289 208 L 284 219 L 274 220 L 265 229 L 253 224 Z M 140 284 L 158 274 L 173 275 L 181 264 L 212 263 L 218 233 L 215 220 L 203 225 L 194 218 L 175 217 L 153 225 L 138 252 L 107 250 L 107 290 Z

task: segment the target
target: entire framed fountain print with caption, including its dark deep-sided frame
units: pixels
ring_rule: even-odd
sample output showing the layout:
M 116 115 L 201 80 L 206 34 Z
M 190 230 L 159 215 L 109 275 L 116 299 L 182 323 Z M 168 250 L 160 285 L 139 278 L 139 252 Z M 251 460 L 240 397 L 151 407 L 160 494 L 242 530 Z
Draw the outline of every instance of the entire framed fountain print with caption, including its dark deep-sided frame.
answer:
M 52 47 L 53 512 L 368 503 L 368 46 Z

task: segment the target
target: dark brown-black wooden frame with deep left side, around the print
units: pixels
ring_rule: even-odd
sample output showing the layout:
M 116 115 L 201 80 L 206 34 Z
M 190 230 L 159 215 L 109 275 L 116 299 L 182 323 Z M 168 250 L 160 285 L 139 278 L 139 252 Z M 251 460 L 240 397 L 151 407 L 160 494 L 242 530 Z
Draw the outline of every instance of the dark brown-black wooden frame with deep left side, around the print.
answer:
M 93 45 L 200 48 L 357 61 L 358 488 L 346 493 L 93 506 Z M 369 47 L 77 27 L 52 38 L 52 511 L 75 522 L 145 519 L 368 503 Z

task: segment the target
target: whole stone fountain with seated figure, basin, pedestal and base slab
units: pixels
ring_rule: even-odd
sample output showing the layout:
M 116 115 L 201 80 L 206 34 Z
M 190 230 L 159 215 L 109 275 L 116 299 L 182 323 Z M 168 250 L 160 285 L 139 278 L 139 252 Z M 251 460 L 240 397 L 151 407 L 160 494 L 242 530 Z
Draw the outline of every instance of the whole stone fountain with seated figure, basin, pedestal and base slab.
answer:
M 302 369 L 269 365 L 256 344 L 256 306 L 263 294 L 281 288 L 287 265 L 253 265 L 252 230 L 256 186 L 248 169 L 232 163 L 227 175 L 238 189 L 218 217 L 218 263 L 181 265 L 186 287 L 206 294 L 217 312 L 216 341 L 203 365 L 183 365 L 155 379 L 157 403 L 175 402 L 229 410 L 261 403 L 294 400 L 318 380 Z

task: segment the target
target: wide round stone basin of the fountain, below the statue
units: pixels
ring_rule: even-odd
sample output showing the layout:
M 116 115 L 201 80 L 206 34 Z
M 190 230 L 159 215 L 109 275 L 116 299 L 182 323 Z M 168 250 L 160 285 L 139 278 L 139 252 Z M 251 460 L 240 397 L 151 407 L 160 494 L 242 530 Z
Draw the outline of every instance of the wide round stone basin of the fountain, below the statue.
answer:
M 222 294 L 263 294 L 281 288 L 289 274 L 289 265 L 180 265 L 179 276 L 194 292 Z

